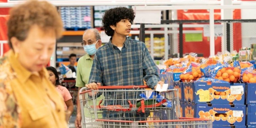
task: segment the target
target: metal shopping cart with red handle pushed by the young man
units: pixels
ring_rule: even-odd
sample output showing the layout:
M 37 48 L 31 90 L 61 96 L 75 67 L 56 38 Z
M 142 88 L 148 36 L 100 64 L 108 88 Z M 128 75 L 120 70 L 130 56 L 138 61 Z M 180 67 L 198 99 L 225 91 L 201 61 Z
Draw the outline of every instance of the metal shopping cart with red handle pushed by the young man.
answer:
M 82 128 L 212 128 L 208 119 L 181 118 L 178 89 L 159 93 L 144 85 L 98 88 L 80 89 Z

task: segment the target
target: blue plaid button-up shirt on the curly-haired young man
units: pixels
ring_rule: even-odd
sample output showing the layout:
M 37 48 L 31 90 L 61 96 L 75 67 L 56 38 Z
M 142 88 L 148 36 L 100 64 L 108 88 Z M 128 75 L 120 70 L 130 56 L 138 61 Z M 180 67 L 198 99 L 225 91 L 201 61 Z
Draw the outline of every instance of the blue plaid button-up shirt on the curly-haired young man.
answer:
M 144 85 L 150 88 L 160 81 L 157 67 L 151 58 L 145 43 L 126 38 L 122 50 L 109 42 L 100 47 L 93 61 L 89 83 L 100 82 L 110 85 Z M 133 99 L 140 96 L 124 95 L 122 92 L 104 94 L 106 100 Z M 126 105 L 122 100 L 104 102 L 105 105 Z

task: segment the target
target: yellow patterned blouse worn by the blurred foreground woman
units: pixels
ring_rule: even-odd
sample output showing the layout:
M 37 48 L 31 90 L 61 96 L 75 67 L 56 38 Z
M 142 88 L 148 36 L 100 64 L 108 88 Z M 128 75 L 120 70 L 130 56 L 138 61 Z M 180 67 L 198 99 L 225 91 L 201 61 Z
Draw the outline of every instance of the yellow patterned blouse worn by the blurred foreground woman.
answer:
M 12 50 L 0 59 L 0 128 L 67 128 L 63 105 L 45 68 L 32 74 Z

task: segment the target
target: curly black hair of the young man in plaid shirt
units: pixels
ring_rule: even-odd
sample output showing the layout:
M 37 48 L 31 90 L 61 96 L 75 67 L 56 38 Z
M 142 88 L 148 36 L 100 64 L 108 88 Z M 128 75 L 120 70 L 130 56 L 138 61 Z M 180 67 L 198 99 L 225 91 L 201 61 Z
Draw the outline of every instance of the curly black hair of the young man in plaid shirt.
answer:
M 105 30 L 105 33 L 108 36 L 113 36 L 114 30 L 110 27 L 110 25 L 116 26 L 116 24 L 123 20 L 128 19 L 130 22 L 134 20 L 135 13 L 132 8 L 126 7 L 116 7 L 111 8 L 105 11 L 105 14 L 102 19 L 102 26 Z

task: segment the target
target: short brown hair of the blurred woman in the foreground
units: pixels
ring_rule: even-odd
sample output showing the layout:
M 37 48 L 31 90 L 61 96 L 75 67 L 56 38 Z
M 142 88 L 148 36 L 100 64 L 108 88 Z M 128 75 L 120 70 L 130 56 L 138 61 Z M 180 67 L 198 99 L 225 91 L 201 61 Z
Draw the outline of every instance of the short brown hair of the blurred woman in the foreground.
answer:
M 47 1 L 29 0 L 11 8 L 9 14 L 7 28 L 8 44 L 11 49 L 11 37 L 24 41 L 32 25 L 39 26 L 45 33 L 48 30 L 54 30 L 57 39 L 62 35 L 63 24 L 61 17 L 57 8 Z

